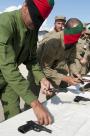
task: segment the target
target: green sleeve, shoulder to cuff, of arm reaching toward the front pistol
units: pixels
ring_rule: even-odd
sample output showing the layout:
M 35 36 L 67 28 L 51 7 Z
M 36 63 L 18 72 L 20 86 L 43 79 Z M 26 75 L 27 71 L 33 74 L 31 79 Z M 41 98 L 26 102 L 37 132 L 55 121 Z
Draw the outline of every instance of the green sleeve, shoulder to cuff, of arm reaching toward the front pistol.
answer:
M 5 20 L 2 22 L 2 20 Z M 8 24 L 8 25 L 7 25 Z M 29 83 L 19 73 L 15 62 L 15 52 L 11 44 L 13 28 L 11 18 L 0 17 L 0 70 L 6 82 L 27 104 L 36 97 L 30 91 Z

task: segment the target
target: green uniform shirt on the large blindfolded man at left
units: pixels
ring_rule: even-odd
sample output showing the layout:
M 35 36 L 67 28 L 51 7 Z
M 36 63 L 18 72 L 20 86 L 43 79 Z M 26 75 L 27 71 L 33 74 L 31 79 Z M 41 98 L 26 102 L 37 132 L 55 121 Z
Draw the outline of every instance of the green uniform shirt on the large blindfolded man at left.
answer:
M 27 104 L 36 96 L 20 74 L 18 65 L 24 63 L 28 69 L 32 66 L 37 80 L 43 77 L 36 61 L 36 42 L 37 31 L 26 29 L 20 10 L 0 15 L 0 70 L 5 81 Z

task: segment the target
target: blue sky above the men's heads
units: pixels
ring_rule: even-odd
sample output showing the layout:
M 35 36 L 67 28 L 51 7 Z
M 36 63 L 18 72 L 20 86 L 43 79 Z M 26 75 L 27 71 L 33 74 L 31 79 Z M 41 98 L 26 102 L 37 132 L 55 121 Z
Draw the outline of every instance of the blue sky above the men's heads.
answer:
M 24 0 L 0 0 L 0 11 L 10 6 L 21 5 Z M 56 15 L 64 15 L 67 19 L 77 17 L 83 22 L 90 22 L 90 0 L 55 0 L 53 11 L 47 19 L 47 26 L 53 26 Z

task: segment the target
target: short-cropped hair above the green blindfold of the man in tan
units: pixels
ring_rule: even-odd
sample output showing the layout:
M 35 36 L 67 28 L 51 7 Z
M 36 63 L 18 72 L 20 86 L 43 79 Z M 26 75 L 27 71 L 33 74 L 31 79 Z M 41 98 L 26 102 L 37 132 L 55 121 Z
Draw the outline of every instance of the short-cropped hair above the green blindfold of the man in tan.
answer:
M 78 18 L 70 18 L 66 22 L 65 27 L 66 28 L 73 28 L 73 27 L 76 27 L 77 25 L 80 25 L 80 24 L 82 24 L 82 22 Z

